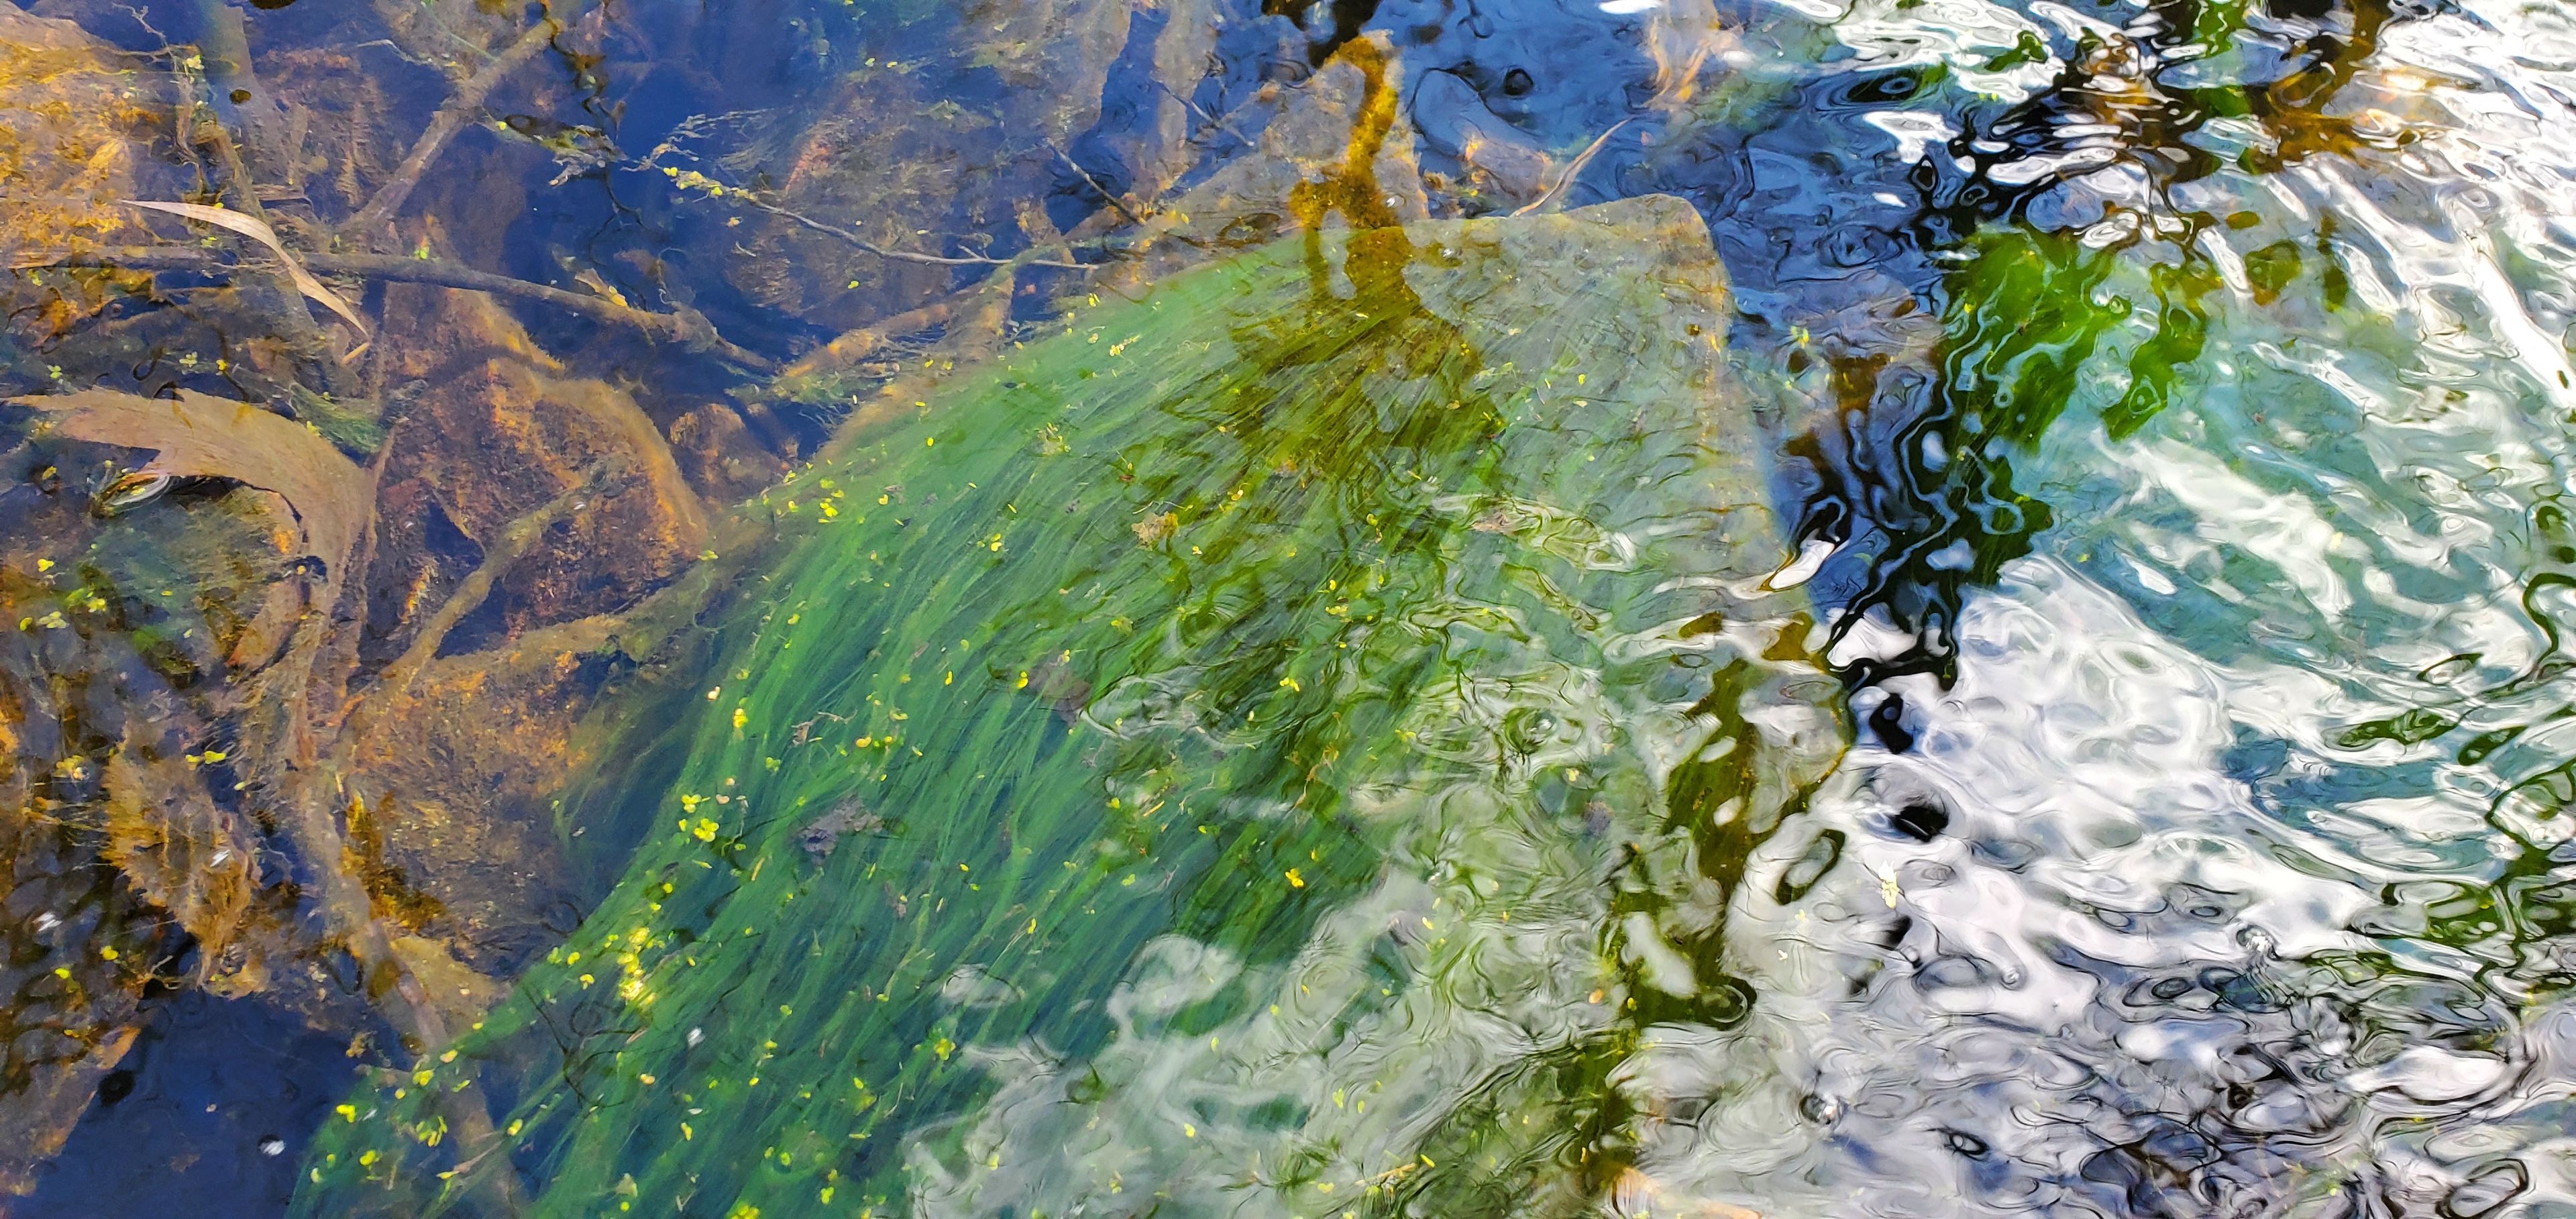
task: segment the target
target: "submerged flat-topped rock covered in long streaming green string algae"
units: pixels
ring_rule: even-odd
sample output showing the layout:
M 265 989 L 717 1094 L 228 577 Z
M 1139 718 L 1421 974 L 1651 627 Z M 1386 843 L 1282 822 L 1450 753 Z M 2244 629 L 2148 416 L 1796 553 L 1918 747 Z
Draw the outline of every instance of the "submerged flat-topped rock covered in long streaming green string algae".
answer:
M 469 1072 L 541 1216 L 1579 1201 L 1528 1064 L 1741 1003 L 1613 915 L 1672 791 L 1832 747 L 1721 309 L 1672 198 L 1288 240 L 773 492 L 623 881 L 296 1211 L 489 1211 Z

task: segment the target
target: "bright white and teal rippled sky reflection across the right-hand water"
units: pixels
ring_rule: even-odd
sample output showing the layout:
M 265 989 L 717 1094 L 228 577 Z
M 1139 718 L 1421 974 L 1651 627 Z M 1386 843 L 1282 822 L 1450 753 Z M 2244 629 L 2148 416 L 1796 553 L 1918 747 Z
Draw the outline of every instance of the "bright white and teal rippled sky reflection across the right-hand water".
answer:
M 1868 3 L 1837 23 L 1855 72 L 1945 64 L 2004 98 L 2066 67 L 1986 67 L 2048 28 L 2112 31 L 2061 5 Z M 2535 897 L 2563 887 L 2571 820 L 2517 796 L 2576 755 L 2576 719 L 2558 714 L 2576 691 L 2543 665 L 2558 624 L 2535 582 L 2576 564 L 2576 549 L 2550 557 L 2576 533 L 2550 533 L 2543 513 L 2568 487 L 2576 407 L 2558 338 L 2576 322 L 2571 46 L 2553 8 L 2393 23 L 2342 106 L 2370 139 L 2269 173 L 2169 183 L 2136 168 L 2123 126 L 2053 124 L 2058 144 L 1991 180 L 2066 178 L 2032 216 L 2092 227 L 2125 260 L 2097 296 L 2148 302 L 2146 265 L 2205 263 L 2218 283 L 2208 350 L 2174 405 L 2117 441 L 2099 412 L 2125 381 L 2084 381 L 2076 423 L 2020 464 L 2061 526 L 1968 595 L 1955 683 L 1899 678 L 1862 696 L 1860 711 L 1901 698 L 1911 747 L 1862 742 L 1754 848 L 1734 892 L 1695 892 L 1662 917 L 1571 902 L 1345 1046 L 1409 1046 L 1368 1067 L 1458 1095 L 1486 1088 L 1605 1039 L 1615 1015 L 1592 1010 L 1589 979 L 1520 977 L 1473 1003 L 1455 987 L 1551 956 L 1595 966 L 1595 920 L 1649 987 L 1708 990 L 1708 977 L 1682 982 L 1705 966 L 1664 936 L 1710 915 L 1726 972 L 1759 995 L 1754 1015 L 1643 1028 L 1610 1075 L 1633 1113 L 1636 1167 L 1589 1206 L 1723 1219 L 2576 1209 L 2576 1010 L 2561 997 L 2576 948 L 2568 902 Z M 2210 82 L 2282 70 L 2251 52 L 2195 67 Z M 1873 126 L 1906 160 L 1932 155 L 1914 147 L 1927 131 L 1953 129 L 1927 111 L 1880 113 L 1904 113 Z M 2228 160 L 2277 139 L 2233 119 L 2192 134 Z M 2130 211 L 2097 224 L 2115 209 Z M 2169 214 L 2141 219 L 2154 209 Z M 2166 224 L 2179 211 L 2228 224 Z M 2290 291 L 2257 273 L 2285 245 L 2306 268 Z M 2339 299 L 2316 286 L 2324 263 Z M 2107 343 L 2125 358 L 2133 338 Z M 1772 585 L 1803 585 L 1832 552 L 1808 554 Z M 1878 613 L 1834 662 L 1911 639 Z M 1358 977 L 1368 936 L 1422 917 L 1427 889 L 1406 892 L 1388 879 L 1347 912 L 1350 936 L 1321 936 L 1298 969 Z M 1177 961 L 1195 946 L 1170 948 Z M 1211 969 L 1208 987 L 1296 984 Z M 1510 1008 L 1497 995 L 1522 995 L 1525 1015 L 1564 1010 L 1553 1026 L 1468 1015 Z M 1154 1111 L 1167 1095 L 1342 1106 L 1324 1075 L 1262 1059 L 1260 1013 L 1221 1031 L 1224 1049 L 1121 1028 L 1100 1064 L 1028 1070 L 1028 1095 L 997 1100 L 1020 1106 L 1015 1147 L 1069 1149 L 1028 1162 L 1018 1196 L 1108 1162 L 1180 1188 L 1182 1173 L 1146 1162 L 1177 1147 Z M 1412 1067 L 1396 1067 L 1404 1054 Z M 1115 1139 L 1097 1134 L 1126 1139 L 1131 1160 L 1048 1126 L 1072 1070 L 1110 1070 L 1141 1106 Z M 1327 1113 L 1309 1131 L 1350 1131 L 1329 1155 L 1425 1137 L 1394 1111 L 1381 1103 L 1378 1124 Z M 1193 1126 L 1185 1139 L 1236 1134 Z M 1262 1214 L 1327 1201 L 1206 1185 L 1218 1160 L 1255 1160 L 1255 1142 L 1195 1144 L 1190 1180 L 1211 1193 L 1182 1196 Z M 1352 1185 L 1363 1167 L 1401 1167 L 1337 1162 Z

